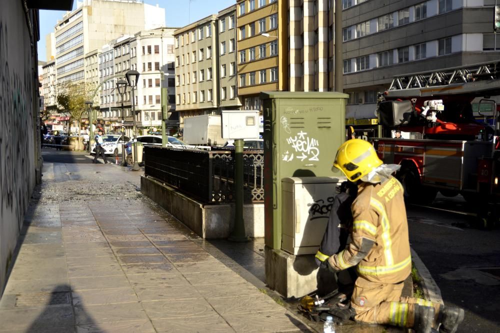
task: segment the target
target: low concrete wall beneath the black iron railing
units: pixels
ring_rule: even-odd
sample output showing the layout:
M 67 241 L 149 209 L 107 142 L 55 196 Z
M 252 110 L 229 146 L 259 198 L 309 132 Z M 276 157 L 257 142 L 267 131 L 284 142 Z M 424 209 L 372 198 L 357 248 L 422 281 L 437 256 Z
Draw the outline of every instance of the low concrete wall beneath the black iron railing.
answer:
M 140 191 L 204 239 L 227 238 L 234 223 L 234 205 L 204 205 L 147 176 Z M 246 236 L 264 237 L 264 204 L 243 206 Z

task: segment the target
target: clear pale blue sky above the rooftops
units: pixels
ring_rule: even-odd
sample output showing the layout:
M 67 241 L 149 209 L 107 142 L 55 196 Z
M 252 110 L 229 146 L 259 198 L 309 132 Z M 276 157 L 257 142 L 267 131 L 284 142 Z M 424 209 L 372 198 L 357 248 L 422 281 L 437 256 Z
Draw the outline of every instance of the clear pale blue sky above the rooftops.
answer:
M 74 7 L 76 7 L 74 0 Z M 181 27 L 210 14 L 216 14 L 236 0 L 144 0 L 144 3 L 165 8 L 166 26 Z M 45 36 L 54 29 L 55 23 L 62 18 L 64 11 L 40 10 L 40 40 L 38 41 L 38 59 L 45 59 Z

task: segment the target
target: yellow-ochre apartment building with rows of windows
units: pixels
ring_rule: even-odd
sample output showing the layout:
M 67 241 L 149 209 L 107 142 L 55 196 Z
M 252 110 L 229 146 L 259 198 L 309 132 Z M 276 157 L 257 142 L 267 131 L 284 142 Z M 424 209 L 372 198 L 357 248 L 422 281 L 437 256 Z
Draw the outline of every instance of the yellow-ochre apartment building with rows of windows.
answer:
M 287 90 L 287 1 L 236 0 L 237 95 L 260 109 L 261 91 Z

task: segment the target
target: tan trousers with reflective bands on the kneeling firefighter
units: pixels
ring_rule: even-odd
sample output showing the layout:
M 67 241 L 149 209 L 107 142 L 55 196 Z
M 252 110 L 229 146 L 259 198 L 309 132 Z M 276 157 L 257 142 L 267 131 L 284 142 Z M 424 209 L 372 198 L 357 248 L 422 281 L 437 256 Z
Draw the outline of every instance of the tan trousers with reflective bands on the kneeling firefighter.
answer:
M 434 307 L 435 317 L 433 327 L 439 311 L 439 303 L 432 303 L 423 299 L 401 297 L 403 283 L 385 284 L 371 282 L 358 277 L 354 284 L 351 298 L 351 308 L 355 312 L 357 322 L 370 324 L 386 324 L 412 328 L 415 319 L 415 304 Z

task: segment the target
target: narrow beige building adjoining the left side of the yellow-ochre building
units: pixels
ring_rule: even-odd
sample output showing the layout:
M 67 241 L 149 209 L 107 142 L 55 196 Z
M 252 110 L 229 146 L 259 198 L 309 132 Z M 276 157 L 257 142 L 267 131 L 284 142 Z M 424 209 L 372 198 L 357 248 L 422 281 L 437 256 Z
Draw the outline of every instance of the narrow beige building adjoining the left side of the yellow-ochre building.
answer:
M 238 61 L 236 52 L 236 5 L 218 12 L 219 107 L 220 110 L 238 110 L 241 100 L 236 93 Z

